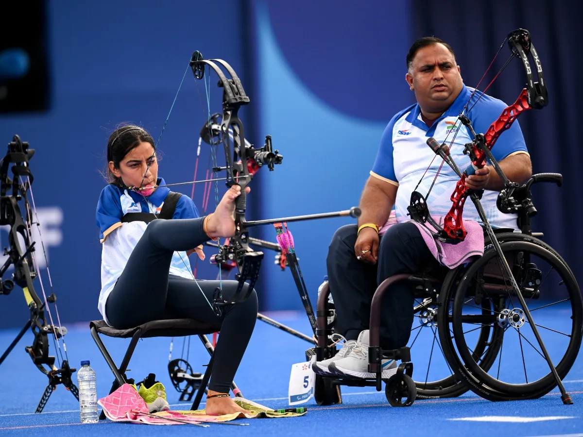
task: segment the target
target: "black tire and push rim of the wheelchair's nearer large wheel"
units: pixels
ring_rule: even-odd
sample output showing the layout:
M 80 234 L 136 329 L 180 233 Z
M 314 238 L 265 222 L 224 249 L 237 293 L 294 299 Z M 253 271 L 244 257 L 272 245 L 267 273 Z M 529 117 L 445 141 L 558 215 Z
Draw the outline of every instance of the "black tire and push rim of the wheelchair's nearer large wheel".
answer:
M 573 276 L 570 268 L 556 253 L 556 251 L 554 251 L 552 248 L 550 248 L 549 245 L 540 241 L 539 239 L 530 235 L 513 232 L 497 235 L 497 239 L 498 242 L 500 242 L 500 246 L 503 249 L 503 252 L 505 253 L 522 251 L 523 255 L 524 253 L 530 253 L 532 255 L 538 256 L 539 258 L 545 259 L 552 266 L 552 269 L 556 269 L 557 273 L 561 275 L 562 283 L 559 284 L 566 285 L 568 296 L 571 302 L 571 309 L 573 310 L 573 316 L 571 316 L 573 322 L 571 323 L 571 337 L 567 351 L 563 358 L 560 360 L 559 364 L 556 366 L 559 377 L 563 379 L 571 369 L 571 366 L 574 364 L 574 361 L 577 358 L 578 350 L 581 346 L 583 329 L 583 304 L 581 302 L 581 292 L 577 285 L 577 280 Z M 478 365 L 475 358 L 472 357 L 472 354 L 470 354 L 467 344 L 465 344 L 465 337 L 463 335 L 464 333 L 462 328 L 463 322 L 461 316 L 461 306 L 463 305 L 464 299 L 472 297 L 471 293 L 468 294 L 468 290 L 470 290 L 469 287 L 471 287 L 470 284 L 472 283 L 473 275 L 480 272 L 480 269 L 485 267 L 487 263 L 489 263 L 490 260 L 494 259 L 496 256 L 496 249 L 493 248 L 487 239 L 484 255 L 475 262 L 470 263 L 470 265 L 467 267 L 458 267 L 450 277 L 450 284 L 448 284 L 448 287 L 446 287 L 447 291 L 442 289 L 442 291 L 444 291 L 444 294 L 442 294 L 440 297 L 442 304 L 445 304 L 445 302 L 448 302 L 449 304 L 449 302 L 453 300 L 454 305 L 452 306 L 451 328 L 448 322 L 445 323 L 446 320 L 443 314 L 441 315 L 442 320 L 440 320 L 438 323 L 440 343 L 442 344 L 444 353 L 448 356 L 448 362 L 455 370 L 456 376 L 461 378 L 469 387 L 469 389 L 472 390 L 472 392 L 484 397 L 484 399 L 492 401 L 536 399 L 540 396 L 544 396 L 545 394 L 549 393 L 550 390 L 556 387 L 556 380 L 553 378 L 552 373 L 550 373 L 550 369 L 549 373 L 535 381 L 528 382 L 528 378 L 525 378 L 526 383 L 524 384 L 503 382 L 497 379 L 499 378 L 499 375 L 496 378 L 494 378 L 492 375 L 489 375 L 489 373 L 487 373 L 489 368 L 486 368 L 481 364 Z M 457 284 L 454 284 L 454 280 L 452 280 L 452 277 L 454 276 L 458 279 Z M 517 298 L 515 297 L 515 299 Z M 514 306 L 512 306 L 512 308 L 514 309 Z M 501 308 L 498 307 L 498 313 L 501 313 L 500 311 Z M 494 313 L 496 313 L 496 311 L 494 311 Z M 463 317 L 467 318 L 468 316 Z M 494 323 L 494 325 L 497 324 L 498 323 Z M 509 327 L 507 327 L 507 329 L 509 329 Z M 453 340 L 452 332 L 454 334 Z M 518 330 L 517 332 L 519 333 Z M 519 336 L 521 335 L 522 334 L 519 333 Z M 503 337 L 503 335 L 500 337 L 500 343 L 503 342 Z M 522 335 L 522 337 L 524 337 L 524 335 Z M 498 350 L 501 350 L 501 346 L 500 348 L 494 348 L 493 350 L 497 355 Z M 491 365 L 491 363 L 489 364 Z

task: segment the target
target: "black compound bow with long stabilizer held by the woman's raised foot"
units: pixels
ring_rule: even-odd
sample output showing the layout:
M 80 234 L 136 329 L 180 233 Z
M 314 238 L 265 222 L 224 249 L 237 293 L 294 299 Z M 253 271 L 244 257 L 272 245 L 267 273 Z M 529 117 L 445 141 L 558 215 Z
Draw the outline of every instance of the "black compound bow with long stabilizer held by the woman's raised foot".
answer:
M 178 182 L 176 184 L 167 184 L 166 186 L 196 184 L 198 182 L 215 182 L 215 202 L 217 205 L 219 203 L 218 186 L 216 183 L 217 181 L 224 180 L 227 187 L 231 187 L 233 185 L 241 186 L 241 194 L 236 200 L 236 208 L 234 213 L 236 229 L 235 233 L 232 237 L 229 238 L 228 244 L 220 245 L 217 243 L 219 253 L 213 256 L 212 259 L 213 263 L 217 263 L 219 267 L 225 265 L 226 263 L 233 263 L 233 265 L 236 265 L 238 269 L 238 273 L 236 274 L 238 287 L 228 302 L 224 300 L 220 287 L 215 290 L 215 295 L 213 296 L 213 302 L 211 305 L 213 307 L 213 311 L 219 314 L 221 311 L 221 306 L 234 304 L 247 299 L 251 294 L 251 291 L 254 289 L 255 283 L 257 281 L 259 267 L 261 266 L 262 259 L 264 258 L 264 253 L 255 251 L 250 247 L 250 236 L 248 228 L 257 225 L 275 224 L 282 221 L 313 220 L 318 218 L 344 216 L 357 217 L 360 215 L 360 209 L 353 207 L 350 210 L 343 210 L 333 213 L 310 214 L 307 216 L 277 218 L 273 220 L 260 220 L 252 222 L 247 221 L 245 219 L 245 212 L 247 210 L 247 194 L 245 192 L 245 188 L 251 182 L 251 179 L 254 177 L 259 168 L 266 166 L 270 171 L 272 171 L 275 164 L 282 163 L 283 156 L 279 154 L 278 150 L 273 151 L 270 135 L 266 136 L 265 145 L 260 148 L 255 148 L 253 145 L 247 142 L 247 140 L 245 140 L 244 126 L 243 122 L 241 122 L 240 118 L 238 117 L 238 111 L 241 106 L 247 105 L 250 102 L 250 98 L 245 93 L 237 73 L 227 62 L 223 61 L 222 59 L 204 59 L 201 52 L 195 51 L 192 54 L 191 60 L 189 61 L 189 67 L 187 68 L 187 71 L 188 69 L 191 69 L 195 79 L 201 80 L 205 77 L 206 66 L 209 68 L 209 73 L 210 69 L 212 69 L 219 77 L 217 86 L 223 90 L 223 113 L 210 115 L 209 86 L 205 81 L 208 112 L 205 114 L 205 125 L 201 129 L 201 139 L 211 145 L 210 150 L 213 163 L 213 174 L 224 170 L 226 171 L 226 177 L 213 177 L 211 179 L 205 179 L 202 181 L 195 180 L 190 182 Z M 223 69 L 227 71 L 230 77 L 225 75 Z M 207 73 L 207 76 L 209 73 Z M 182 77 L 182 80 L 184 80 L 184 76 Z M 180 92 L 180 87 L 178 88 L 176 97 L 178 96 L 178 92 Z M 174 101 L 176 100 L 176 97 L 174 98 Z M 171 111 L 172 107 L 170 108 L 166 122 L 168 121 L 168 118 L 170 118 Z M 165 126 L 166 123 L 164 124 L 164 127 Z M 160 133 L 160 138 L 164 132 L 164 127 Z M 160 142 L 160 138 L 154 146 L 154 153 L 156 151 L 157 145 Z M 223 167 L 219 167 L 217 164 L 216 153 L 214 149 L 214 146 L 219 144 L 224 146 L 225 165 Z M 143 190 L 143 188 L 135 186 L 126 188 L 132 189 L 136 192 L 141 192 Z M 247 287 L 244 291 L 246 283 Z

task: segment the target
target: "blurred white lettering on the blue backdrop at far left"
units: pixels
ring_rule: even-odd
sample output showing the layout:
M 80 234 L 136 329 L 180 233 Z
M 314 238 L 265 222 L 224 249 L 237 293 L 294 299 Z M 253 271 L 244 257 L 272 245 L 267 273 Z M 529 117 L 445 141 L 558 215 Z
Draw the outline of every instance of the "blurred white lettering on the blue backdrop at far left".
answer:
M 37 222 L 38 216 L 38 225 Z M 50 267 L 50 248 L 55 246 L 60 246 L 63 240 L 63 234 L 61 231 L 61 224 L 63 223 L 63 210 L 58 206 L 48 206 L 37 209 L 37 214 L 33 213 L 33 228 L 32 228 L 32 240 L 36 241 L 34 245 L 35 251 L 34 256 L 36 258 L 38 268 L 45 269 L 47 267 L 47 262 Z M 0 232 L 0 266 L 4 265 L 8 256 L 4 255 L 4 248 L 8 248 L 8 232 L 10 231 L 10 226 L 0 226 L 2 232 Z M 19 234 L 18 236 L 20 247 L 23 251 L 26 250 L 24 247 L 24 239 Z M 45 260 L 43 253 L 43 243 L 44 250 L 47 253 L 47 259 Z M 10 266 L 10 269 L 13 269 Z

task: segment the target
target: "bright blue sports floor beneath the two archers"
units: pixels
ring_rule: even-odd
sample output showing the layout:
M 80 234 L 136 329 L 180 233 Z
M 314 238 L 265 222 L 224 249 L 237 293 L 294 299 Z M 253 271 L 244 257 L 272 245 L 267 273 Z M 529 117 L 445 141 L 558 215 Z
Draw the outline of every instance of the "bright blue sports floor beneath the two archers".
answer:
M 542 325 L 560 322 L 560 311 L 547 312 L 539 318 Z M 310 333 L 305 314 L 300 312 L 271 313 L 272 318 Z M 551 320 L 554 319 L 554 320 Z M 557 325 L 553 325 L 556 327 Z M 108 394 L 113 375 L 93 343 L 86 323 L 68 326 L 66 346 L 69 360 L 78 367 L 81 360 L 90 360 L 97 372 L 97 394 Z M 2 351 L 16 336 L 17 330 L 0 332 Z M 552 338 L 552 337 L 550 337 Z M 471 435 L 479 436 L 583 436 L 583 358 L 580 356 L 565 378 L 574 404 L 564 406 L 559 390 L 554 389 L 538 400 L 493 403 L 472 392 L 455 399 L 417 400 L 408 408 L 394 408 L 385 399 L 384 387 L 376 392 L 373 387 L 342 387 L 343 404 L 319 407 L 313 399 L 303 406 L 304 417 L 266 420 L 239 420 L 248 427 L 212 425 L 198 428 L 191 425 L 154 426 L 120 424 L 102 421 L 99 424 L 79 423 L 78 403 L 62 386 L 52 394 L 44 413 L 34 414 L 47 378 L 33 366 L 24 352 L 32 337 L 26 334 L 15 350 L 0 366 L 0 435 L 103 436 L 127 435 Z M 105 338 L 104 343 L 115 361 L 121 361 L 129 340 Z M 433 336 L 419 336 L 417 347 L 431 350 Z M 170 339 L 145 339 L 136 348 L 129 376 L 141 380 L 149 372 L 156 373 L 167 390 L 173 409 L 188 409 L 190 403 L 178 403 L 179 394 L 170 383 L 167 372 Z M 51 350 L 53 345 L 51 343 Z M 304 361 L 309 344 L 266 323 L 257 321 L 256 329 L 236 377 L 236 383 L 248 399 L 272 408 L 286 408 L 287 388 L 291 364 Z M 437 348 L 437 346 L 435 346 Z M 510 348 L 511 346 L 509 346 Z M 182 340 L 175 339 L 173 358 L 181 355 Z M 415 358 L 414 358 L 415 360 Z M 208 353 L 198 337 L 192 337 L 189 358 L 194 371 L 203 371 Z M 414 361 L 415 362 L 415 361 Z M 439 362 L 441 372 L 448 373 L 444 360 Z M 504 366 L 504 361 L 502 366 Z M 508 364 L 510 365 L 510 364 Z M 420 368 L 420 367 L 419 367 Z M 423 376 L 417 373 L 417 380 Z M 75 373 L 76 379 L 76 373 Z

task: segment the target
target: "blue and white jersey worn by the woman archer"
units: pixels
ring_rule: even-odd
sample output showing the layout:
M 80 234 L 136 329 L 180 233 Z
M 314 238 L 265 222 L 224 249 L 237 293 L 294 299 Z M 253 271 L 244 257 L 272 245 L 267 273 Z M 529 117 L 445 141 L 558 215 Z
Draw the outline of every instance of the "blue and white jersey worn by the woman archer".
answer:
M 158 178 L 156 184 L 166 185 L 162 178 Z M 134 191 L 111 184 L 101 191 L 96 210 L 96 223 L 100 229 L 99 239 L 102 243 L 101 292 L 97 307 L 106 322 L 107 297 L 124 271 L 129 256 L 147 226 L 144 221 L 122 223 L 121 218 L 127 213 L 160 213 L 169 192 L 170 189 L 166 186 L 160 186 L 146 198 Z M 194 202 L 188 196 L 180 196 L 172 218 L 197 217 L 199 213 Z M 169 273 L 187 279 L 194 277 L 186 252 L 174 252 Z

